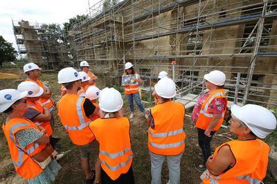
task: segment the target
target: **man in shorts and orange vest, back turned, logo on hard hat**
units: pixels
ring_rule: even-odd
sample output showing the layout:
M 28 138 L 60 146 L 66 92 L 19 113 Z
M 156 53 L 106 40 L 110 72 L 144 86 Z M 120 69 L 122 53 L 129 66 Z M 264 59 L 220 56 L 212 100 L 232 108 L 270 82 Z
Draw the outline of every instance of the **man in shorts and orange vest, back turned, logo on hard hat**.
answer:
M 63 68 L 57 75 L 58 83 L 66 88 L 66 94 L 57 102 L 58 116 L 64 129 L 69 133 L 73 144 L 81 152 L 81 166 L 86 175 L 87 183 L 100 182 L 100 160 L 96 158 L 95 176 L 89 167 L 89 156 L 98 155 L 97 142 L 89 129 L 93 116 L 99 116 L 99 111 L 87 98 L 77 94 L 81 78 L 74 68 Z M 95 178 L 95 180 L 94 180 Z

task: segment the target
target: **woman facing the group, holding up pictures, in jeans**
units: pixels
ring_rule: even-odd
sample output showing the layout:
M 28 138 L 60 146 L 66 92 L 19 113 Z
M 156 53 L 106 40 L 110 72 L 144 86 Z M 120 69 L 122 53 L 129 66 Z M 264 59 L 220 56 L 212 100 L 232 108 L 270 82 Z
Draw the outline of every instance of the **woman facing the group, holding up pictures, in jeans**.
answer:
M 125 73 L 123 75 L 139 75 L 139 74 L 134 71 L 133 64 L 130 62 L 127 62 L 125 64 Z M 139 95 L 139 84 L 143 84 L 143 80 L 141 80 L 141 77 L 137 77 L 137 79 L 133 77 L 132 80 L 134 80 L 136 84 L 124 85 L 124 93 L 126 95 L 127 102 L 129 104 L 129 109 L 131 110 L 131 114 L 129 118 L 132 119 L 134 117 L 133 99 L 136 102 L 137 106 L 139 107 L 139 110 L 143 113 L 143 115 L 146 118 L 147 116 L 145 115 L 145 109 L 143 107 L 143 103 L 141 102 L 141 98 Z

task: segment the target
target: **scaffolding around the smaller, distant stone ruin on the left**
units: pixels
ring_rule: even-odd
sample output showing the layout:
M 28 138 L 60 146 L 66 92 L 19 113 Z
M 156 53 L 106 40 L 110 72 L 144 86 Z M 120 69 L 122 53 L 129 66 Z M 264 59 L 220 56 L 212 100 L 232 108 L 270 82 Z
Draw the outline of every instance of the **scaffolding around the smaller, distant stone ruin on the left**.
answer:
M 68 65 L 66 44 L 54 30 L 46 30 L 42 24 L 12 20 L 12 27 L 21 58 L 27 57 L 46 69 L 58 70 Z

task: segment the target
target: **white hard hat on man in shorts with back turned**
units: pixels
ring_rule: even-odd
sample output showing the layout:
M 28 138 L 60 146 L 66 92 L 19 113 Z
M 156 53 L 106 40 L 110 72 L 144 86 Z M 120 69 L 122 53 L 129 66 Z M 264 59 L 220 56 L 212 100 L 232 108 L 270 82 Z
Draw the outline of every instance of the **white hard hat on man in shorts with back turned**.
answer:
M 62 70 L 59 71 L 57 74 L 57 82 L 58 83 L 67 83 L 67 82 L 73 82 L 76 80 L 81 80 L 81 77 L 74 68 L 68 67 L 68 68 L 62 68 Z

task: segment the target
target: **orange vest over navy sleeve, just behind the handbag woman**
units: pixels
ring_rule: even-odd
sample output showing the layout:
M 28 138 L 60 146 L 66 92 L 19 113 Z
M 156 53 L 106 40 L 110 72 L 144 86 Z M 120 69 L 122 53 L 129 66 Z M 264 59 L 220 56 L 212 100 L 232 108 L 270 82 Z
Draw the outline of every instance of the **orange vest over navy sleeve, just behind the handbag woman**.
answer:
M 29 109 L 34 109 L 36 111 L 39 111 L 40 113 L 44 112 L 43 105 L 39 101 L 30 102 L 27 100 L 27 107 Z M 52 130 L 50 122 L 39 122 L 39 121 L 35 121 L 35 120 L 33 120 L 33 122 L 35 123 L 35 125 L 37 125 L 37 127 L 42 127 L 43 129 L 45 129 L 46 134 L 48 136 L 51 136 L 53 134 L 53 130 Z

